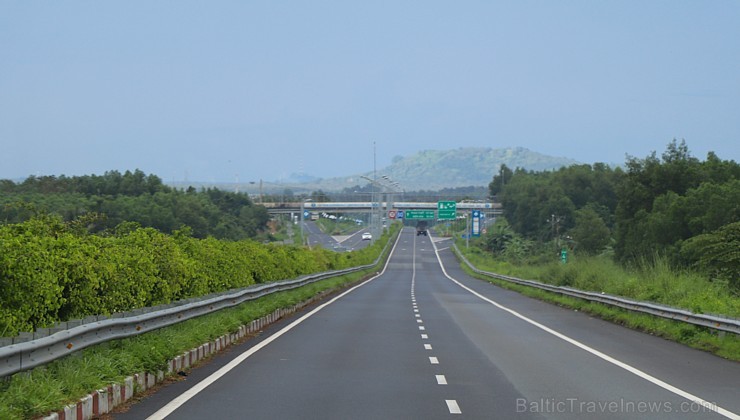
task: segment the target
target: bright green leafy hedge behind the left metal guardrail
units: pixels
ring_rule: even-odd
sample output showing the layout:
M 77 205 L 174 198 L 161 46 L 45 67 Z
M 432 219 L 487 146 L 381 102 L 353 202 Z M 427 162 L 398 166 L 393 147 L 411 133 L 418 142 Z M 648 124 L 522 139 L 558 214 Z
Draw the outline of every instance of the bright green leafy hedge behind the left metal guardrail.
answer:
M 107 235 L 59 216 L 0 225 L 0 335 L 303 274 L 363 265 L 362 251 L 197 239 L 133 222 Z

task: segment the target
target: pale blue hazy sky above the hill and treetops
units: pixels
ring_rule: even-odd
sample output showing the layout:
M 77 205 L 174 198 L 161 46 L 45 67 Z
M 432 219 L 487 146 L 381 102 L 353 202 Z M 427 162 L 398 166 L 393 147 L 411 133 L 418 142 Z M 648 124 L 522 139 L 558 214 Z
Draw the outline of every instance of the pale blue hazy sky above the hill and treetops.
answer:
M 0 178 L 372 171 L 686 139 L 740 161 L 740 1 L 0 0 Z M 399 180 L 403 182 L 403 180 Z

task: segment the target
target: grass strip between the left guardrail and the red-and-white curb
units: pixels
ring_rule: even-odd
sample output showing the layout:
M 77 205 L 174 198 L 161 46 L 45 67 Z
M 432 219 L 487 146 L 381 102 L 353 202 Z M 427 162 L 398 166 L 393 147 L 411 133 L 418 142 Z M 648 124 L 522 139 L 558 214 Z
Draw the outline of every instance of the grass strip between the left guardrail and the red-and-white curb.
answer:
M 394 236 L 391 235 L 390 240 Z M 386 250 L 385 257 L 391 247 Z M 136 372 L 166 370 L 167 361 L 203 343 L 232 333 L 274 312 L 327 295 L 368 278 L 378 266 L 188 320 L 136 337 L 84 349 L 36 369 L 0 379 L 0 419 L 27 419 L 61 410 L 93 390 L 121 383 Z

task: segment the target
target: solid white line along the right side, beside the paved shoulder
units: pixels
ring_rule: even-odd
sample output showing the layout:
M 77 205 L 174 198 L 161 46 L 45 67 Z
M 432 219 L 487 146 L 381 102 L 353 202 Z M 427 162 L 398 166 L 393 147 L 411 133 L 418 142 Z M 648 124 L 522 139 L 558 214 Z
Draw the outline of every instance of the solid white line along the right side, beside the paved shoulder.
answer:
M 434 244 L 434 242 L 432 242 L 432 244 Z M 436 250 L 436 246 L 435 246 L 435 250 Z M 645 379 L 648 382 L 652 382 L 653 384 L 658 385 L 659 387 L 661 387 L 661 388 L 663 388 L 663 389 L 665 389 L 667 391 L 670 391 L 670 392 L 672 392 L 672 393 L 674 393 L 674 394 L 676 394 L 676 395 L 678 395 L 680 397 L 686 398 L 687 400 L 689 400 L 689 401 L 691 401 L 693 403 L 700 404 L 702 407 L 708 408 L 708 409 L 714 411 L 715 413 L 721 414 L 721 415 L 723 415 L 723 416 L 725 416 L 725 417 L 727 417 L 729 419 L 735 419 L 735 420 L 740 419 L 740 415 L 738 415 L 736 413 L 733 413 L 732 411 L 729 411 L 729 410 L 724 409 L 724 408 L 722 408 L 722 407 L 720 407 L 718 405 L 715 405 L 713 403 L 710 403 L 709 401 L 707 401 L 707 400 L 705 400 L 703 398 L 697 397 L 696 395 L 691 394 L 689 392 L 686 392 L 686 391 L 684 391 L 684 390 L 682 390 L 680 388 L 676 388 L 675 386 L 673 386 L 673 385 L 671 385 L 671 384 L 669 384 L 667 382 L 663 382 L 662 380 L 660 380 L 660 379 L 658 379 L 658 378 L 656 378 L 656 377 L 654 377 L 654 376 L 652 376 L 652 375 L 650 375 L 648 373 L 645 373 L 645 372 L 641 371 L 640 369 L 637 369 L 637 368 L 635 368 L 633 366 L 630 366 L 627 363 L 621 362 L 621 361 L 619 361 L 619 360 L 617 360 L 617 359 L 615 359 L 615 358 L 613 358 L 613 357 L 611 357 L 611 356 L 609 356 L 609 355 L 607 355 L 605 353 L 602 353 L 602 352 L 600 352 L 600 351 L 598 351 L 598 350 L 596 350 L 594 348 L 591 348 L 591 347 L 589 347 L 589 346 L 581 343 L 580 341 L 574 340 L 574 339 L 566 336 L 565 334 L 559 333 L 559 332 L 557 332 L 557 331 L 555 331 L 555 330 L 553 330 L 553 329 L 551 329 L 549 327 L 546 327 L 543 324 L 540 324 L 537 321 L 534 321 L 534 320 L 532 320 L 530 318 L 527 318 L 526 316 L 520 314 L 519 312 L 517 312 L 517 311 L 515 311 L 513 309 L 509 309 L 506 306 L 501 305 L 500 303 L 497 303 L 497 302 L 495 302 L 495 301 L 493 301 L 491 299 L 488 299 L 487 297 L 485 297 L 485 296 L 481 295 L 480 293 L 476 292 L 475 290 L 473 290 L 473 289 L 465 286 L 464 284 L 460 283 L 459 281 L 457 281 L 454 278 L 452 278 L 449 274 L 447 274 L 447 270 L 445 270 L 444 264 L 442 264 L 442 258 L 439 256 L 439 252 L 437 252 L 437 251 L 435 251 L 435 252 L 436 252 L 436 255 L 437 255 L 437 261 L 439 262 L 439 266 L 442 268 L 442 272 L 444 273 L 445 277 L 447 277 L 448 279 L 450 279 L 452 282 L 454 282 L 458 286 L 462 287 L 463 289 L 467 290 L 472 295 L 474 295 L 474 296 L 476 296 L 476 297 L 478 297 L 478 298 L 480 298 L 480 299 L 482 299 L 482 300 L 490 303 L 491 305 L 493 305 L 493 306 L 495 306 L 495 307 L 497 307 L 497 308 L 499 308 L 501 310 L 504 310 L 504 311 L 506 311 L 506 312 L 514 315 L 515 317 L 521 319 L 522 321 L 525 321 L 525 322 L 527 322 L 527 323 L 529 323 L 531 325 L 534 325 L 535 327 L 537 327 L 537 328 L 539 328 L 539 329 L 541 329 L 543 331 L 546 331 L 546 332 L 554 335 L 555 337 L 560 338 L 563 341 L 566 341 L 566 342 L 568 342 L 568 343 L 570 343 L 570 344 L 572 344 L 572 345 L 574 345 L 574 346 L 576 346 L 578 348 L 581 348 L 581 349 L 583 349 L 583 350 L 585 350 L 585 351 L 593 354 L 596 357 L 599 357 L 599 358 L 601 358 L 601 359 L 603 359 L 603 360 L 605 360 L 605 361 L 607 361 L 607 362 L 609 362 L 609 363 L 611 363 L 613 365 L 619 366 L 620 368 L 622 368 L 622 369 L 624 369 L 624 370 L 626 370 L 626 371 L 628 371 L 628 372 L 630 372 L 630 373 L 632 373 L 632 374 L 634 374 L 634 375 L 636 375 L 636 376 L 638 376 L 638 377 L 640 377 L 642 379 Z

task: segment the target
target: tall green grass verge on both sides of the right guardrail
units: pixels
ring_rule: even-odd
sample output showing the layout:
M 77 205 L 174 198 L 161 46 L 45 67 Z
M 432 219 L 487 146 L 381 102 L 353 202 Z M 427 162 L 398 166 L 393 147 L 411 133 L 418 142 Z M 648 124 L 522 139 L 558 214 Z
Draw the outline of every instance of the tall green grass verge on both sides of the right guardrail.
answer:
M 657 303 L 685 308 L 694 312 L 715 313 L 738 317 L 740 302 L 729 292 L 729 287 L 689 272 L 671 269 L 663 259 L 645 260 L 638 266 L 625 269 L 608 258 L 571 260 L 567 264 L 517 266 L 498 261 L 480 250 L 460 248 L 477 268 L 543 283 L 604 292 L 635 300 L 652 300 Z M 691 347 L 712 352 L 720 357 L 740 361 L 740 336 L 725 334 L 684 322 L 628 311 L 596 302 L 589 302 L 545 290 L 523 286 L 504 280 L 477 275 L 467 266 L 463 268 L 472 276 L 517 291 L 535 299 L 552 302 L 602 319 L 649 332 Z

